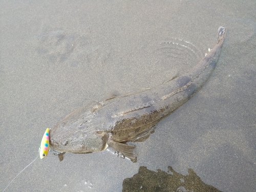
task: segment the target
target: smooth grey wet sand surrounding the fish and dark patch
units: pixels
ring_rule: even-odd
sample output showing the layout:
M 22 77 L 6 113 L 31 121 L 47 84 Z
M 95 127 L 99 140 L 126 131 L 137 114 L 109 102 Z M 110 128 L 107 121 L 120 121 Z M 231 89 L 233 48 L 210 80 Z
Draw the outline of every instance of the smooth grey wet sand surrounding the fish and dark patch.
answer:
M 137 163 L 111 148 L 67 153 L 61 162 L 50 153 L 6 191 L 121 191 L 140 166 L 165 172 L 172 166 L 182 175 L 190 168 L 221 191 L 256 189 L 255 1 L 2 1 L 0 7 L 0 191 L 36 157 L 47 127 L 113 90 L 155 87 L 189 70 L 214 47 L 219 26 L 228 31 L 217 68 L 136 143 Z M 166 43 L 173 39 L 195 49 Z

